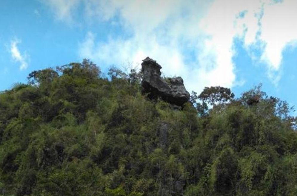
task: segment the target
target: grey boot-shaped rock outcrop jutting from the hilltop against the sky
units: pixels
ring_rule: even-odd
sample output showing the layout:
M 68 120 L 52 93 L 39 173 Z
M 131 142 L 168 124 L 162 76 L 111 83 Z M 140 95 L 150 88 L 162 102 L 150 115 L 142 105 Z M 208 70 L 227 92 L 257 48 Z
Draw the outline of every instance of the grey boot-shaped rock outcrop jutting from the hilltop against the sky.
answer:
M 143 73 L 142 87 L 143 93 L 148 93 L 152 99 L 161 97 L 171 104 L 182 106 L 190 99 L 190 94 L 184 87 L 181 77 L 169 78 L 165 81 L 161 78 L 162 67 L 150 57 L 146 57 L 141 63 Z

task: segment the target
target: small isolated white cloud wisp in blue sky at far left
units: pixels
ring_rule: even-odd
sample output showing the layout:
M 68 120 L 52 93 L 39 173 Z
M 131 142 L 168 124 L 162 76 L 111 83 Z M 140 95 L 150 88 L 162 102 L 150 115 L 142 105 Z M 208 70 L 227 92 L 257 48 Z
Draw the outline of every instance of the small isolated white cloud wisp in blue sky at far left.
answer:
M 21 54 L 18 48 L 18 44 L 21 43 L 21 41 L 15 39 L 11 41 L 10 43 L 10 53 L 11 57 L 14 61 L 21 63 L 20 65 L 20 70 L 27 69 L 28 63 L 27 63 L 27 55 L 26 54 Z

